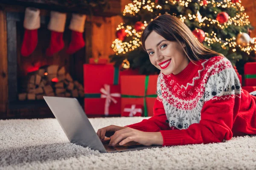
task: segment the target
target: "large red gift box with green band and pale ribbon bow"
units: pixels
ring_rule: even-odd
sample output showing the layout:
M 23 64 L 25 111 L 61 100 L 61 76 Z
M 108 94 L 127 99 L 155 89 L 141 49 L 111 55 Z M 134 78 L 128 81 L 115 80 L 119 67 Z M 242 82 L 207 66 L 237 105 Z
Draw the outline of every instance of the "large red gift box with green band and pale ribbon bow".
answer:
M 118 68 L 113 67 L 112 64 L 96 65 L 84 64 L 84 111 L 87 115 L 121 115 L 121 102 L 119 97 L 111 94 L 120 93 L 120 76 L 138 74 L 136 70 L 119 71 Z M 109 109 L 106 112 L 106 98 L 102 97 L 101 89 L 104 85 L 110 85 L 108 94 Z

